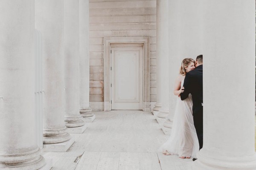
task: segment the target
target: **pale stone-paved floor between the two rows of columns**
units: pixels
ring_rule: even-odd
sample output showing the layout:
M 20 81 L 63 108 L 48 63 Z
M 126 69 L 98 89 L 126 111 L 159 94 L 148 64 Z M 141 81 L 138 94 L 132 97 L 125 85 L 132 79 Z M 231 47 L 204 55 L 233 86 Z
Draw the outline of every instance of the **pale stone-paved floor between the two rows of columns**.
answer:
M 94 112 L 82 134 L 65 153 L 43 152 L 51 170 L 191 170 L 192 159 L 163 156 L 164 135 L 151 112 Z

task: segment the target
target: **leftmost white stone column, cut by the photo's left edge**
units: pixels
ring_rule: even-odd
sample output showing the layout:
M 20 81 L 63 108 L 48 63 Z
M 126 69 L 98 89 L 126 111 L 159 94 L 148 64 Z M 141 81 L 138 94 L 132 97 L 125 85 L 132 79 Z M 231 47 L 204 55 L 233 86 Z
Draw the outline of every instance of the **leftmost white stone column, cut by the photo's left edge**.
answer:
M 35 127 L 35 3 L 0 1 L 0 169 L 39 170 Z

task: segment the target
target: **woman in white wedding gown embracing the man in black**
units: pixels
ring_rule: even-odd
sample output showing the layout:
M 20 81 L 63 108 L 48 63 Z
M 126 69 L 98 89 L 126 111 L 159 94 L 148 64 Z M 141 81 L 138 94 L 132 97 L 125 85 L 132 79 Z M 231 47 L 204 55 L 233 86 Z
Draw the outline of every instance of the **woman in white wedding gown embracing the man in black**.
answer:
M 177 104 L 172 124 L 172 133 L 169 139 L 160 147 L 164 155 L 178 155 L 181 159 L 196 157 L 199 151 L 198 137 L 196 135 L 193 115 L 192 96 L 185 100 L 180 99 L 183 93 L 183 82 L 186 73 L 195 68 L 195 60 L 185 58 L 180 67 L 180 75 L 175 80 L 173 93 L 177 96 Z

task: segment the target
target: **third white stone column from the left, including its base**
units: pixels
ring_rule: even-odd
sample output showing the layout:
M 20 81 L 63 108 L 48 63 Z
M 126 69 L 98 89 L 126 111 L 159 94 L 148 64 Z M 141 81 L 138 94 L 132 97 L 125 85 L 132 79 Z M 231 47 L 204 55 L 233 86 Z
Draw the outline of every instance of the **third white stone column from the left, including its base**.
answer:
M 80 127 L 79 131 L 68 129 L 69 133 L 83 133 L 86 128 L 79 112 L 79 0 L 64 0 L 64 73 L 66 126 Z

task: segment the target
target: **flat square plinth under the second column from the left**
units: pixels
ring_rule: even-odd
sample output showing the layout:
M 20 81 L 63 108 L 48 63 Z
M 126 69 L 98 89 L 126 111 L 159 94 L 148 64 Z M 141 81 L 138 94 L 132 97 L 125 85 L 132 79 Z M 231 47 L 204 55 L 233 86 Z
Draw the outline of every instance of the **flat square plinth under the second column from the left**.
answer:
M 42 150 L 44 152 L 66 152 L 74 142 L 75 140 L 71 138 L 70 140 L 62 143 L 44 144 Z

